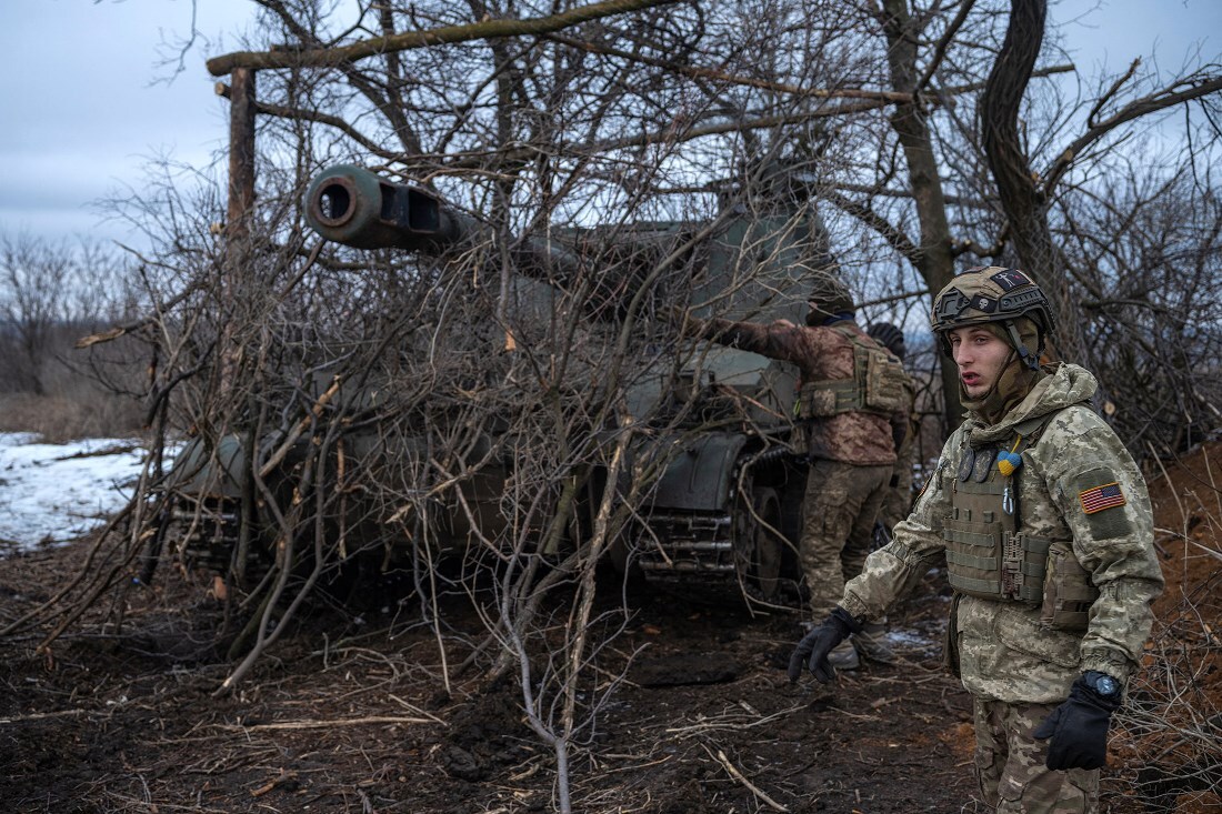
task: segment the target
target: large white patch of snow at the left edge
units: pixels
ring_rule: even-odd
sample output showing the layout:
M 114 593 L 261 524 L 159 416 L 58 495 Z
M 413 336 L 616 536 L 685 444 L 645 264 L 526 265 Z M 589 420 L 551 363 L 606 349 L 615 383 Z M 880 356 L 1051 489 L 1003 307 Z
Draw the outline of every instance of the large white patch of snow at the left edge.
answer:
M 18 550 L 66 543 L 131 500 L 145 455 L 137 440 L 37 441 L 0 433 L 0 540 Z

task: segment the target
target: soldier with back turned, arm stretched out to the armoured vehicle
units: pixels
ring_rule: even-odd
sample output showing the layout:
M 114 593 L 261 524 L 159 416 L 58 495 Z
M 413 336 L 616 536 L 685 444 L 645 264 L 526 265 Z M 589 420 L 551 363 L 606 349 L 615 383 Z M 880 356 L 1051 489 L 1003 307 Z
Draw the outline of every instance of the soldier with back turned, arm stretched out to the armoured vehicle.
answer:
M 907 414 L 893 385 L 903 365 L 853 320 L 844 284 L 819 275 L 809 304 L 805 326 L 785 319 L 769 325 L 690 319 L 688 332 L 798 367 L 796 412 L 810 458 L 799 556 L 814 617 L 822 618 L 844 583 L 862 572 Z M 868 369 L 877 373 L 873 384 L 865 381 Z M 841 669 L 859 664 L 848 642 L 832 658 Z

